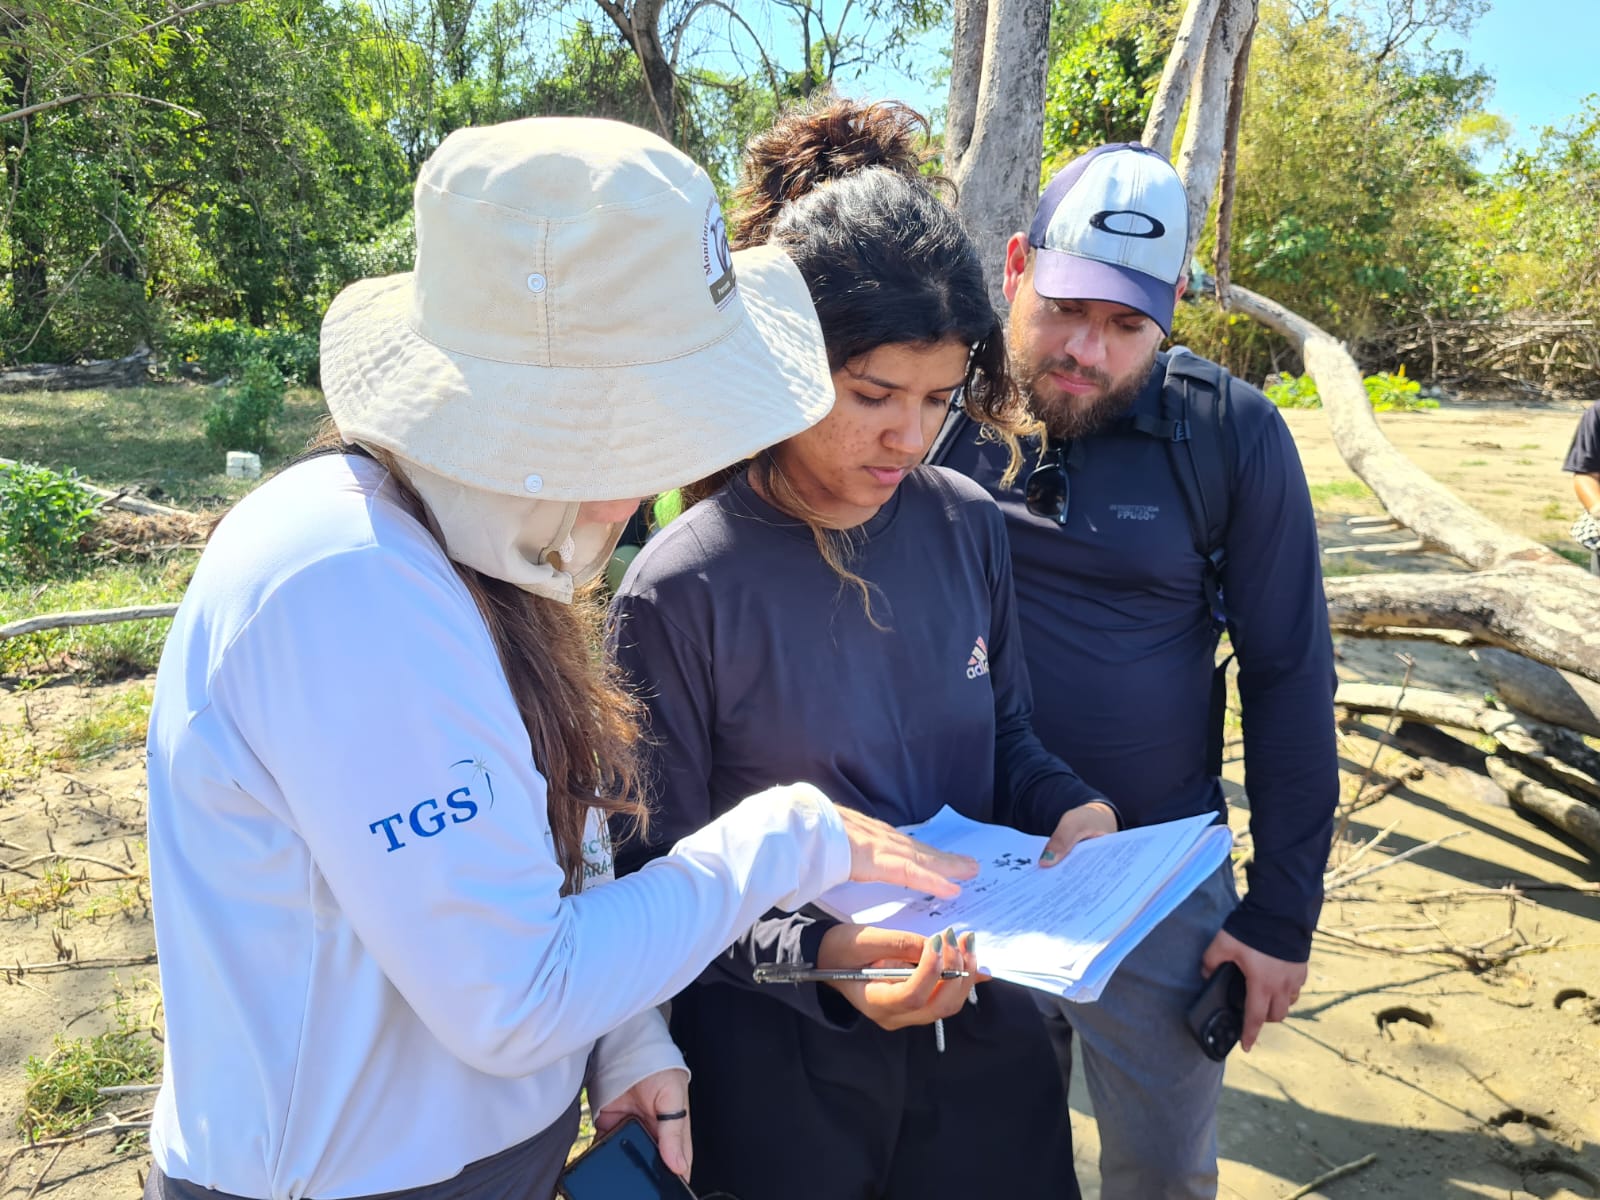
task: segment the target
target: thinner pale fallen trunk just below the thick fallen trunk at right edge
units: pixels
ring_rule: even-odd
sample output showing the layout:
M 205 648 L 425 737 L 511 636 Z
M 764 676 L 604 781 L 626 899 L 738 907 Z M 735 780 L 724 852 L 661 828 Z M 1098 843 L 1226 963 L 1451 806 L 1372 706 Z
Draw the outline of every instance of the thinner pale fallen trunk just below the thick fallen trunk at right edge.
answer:
M 1387 683 L 1341 683 L 1334 704 L 1349 712 L 1398 714 L 1426 725 L 1485 733 L 1502 752 L 1549 771 L 1565 787 L 1600 803 L 1600 752 L 1590 750 L 1570 730 L 1506 712 L 1474 696 Z

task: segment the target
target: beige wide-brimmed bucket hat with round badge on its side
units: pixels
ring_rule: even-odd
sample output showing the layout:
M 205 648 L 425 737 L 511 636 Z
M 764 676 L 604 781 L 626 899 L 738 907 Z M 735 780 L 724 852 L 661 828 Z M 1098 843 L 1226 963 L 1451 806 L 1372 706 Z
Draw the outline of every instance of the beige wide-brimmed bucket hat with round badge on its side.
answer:
M 651 133 L 458 130 L 418 178 L 416 237 L 411 272 L 328 309 L 322 379 L 346 440 L 429 475 L 523 501 L 651 496 L 832 405 L 798 269 L 730 253 L 710 179 Z

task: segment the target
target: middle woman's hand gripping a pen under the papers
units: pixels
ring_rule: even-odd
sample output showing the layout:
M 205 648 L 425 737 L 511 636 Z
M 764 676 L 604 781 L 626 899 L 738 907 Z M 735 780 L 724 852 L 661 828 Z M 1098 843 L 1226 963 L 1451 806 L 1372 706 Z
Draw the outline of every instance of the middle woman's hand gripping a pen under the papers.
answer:
M 981 982 L 974 942 L 976 934 L 965 933 L 958 944 L 954 930 L 922 938 L 875 925 L 835 925 L 822 934 L 816 965 L 829 970 L 914 968 L 909 979 L 835 979 L 827 984 L 883 1029 L 904 1029 L 933 1024 L 962 1011 L 966 997 Z M 941 971 L 970 974 L 966 979 L 941 979 Z

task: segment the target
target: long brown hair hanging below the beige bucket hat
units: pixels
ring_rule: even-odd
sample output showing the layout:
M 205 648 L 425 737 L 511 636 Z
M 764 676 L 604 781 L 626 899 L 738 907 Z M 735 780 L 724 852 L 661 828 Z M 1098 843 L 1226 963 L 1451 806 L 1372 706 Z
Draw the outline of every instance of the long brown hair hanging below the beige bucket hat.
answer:
M 382 450 L 352 448 L 328 422 L 315 451 L 360 453 L 387 470 L 400 498 L 443 547 L 427 506 L 405 477 L 405 466 Z M 525 592 L 451 562 L 488 626 L 517 712 L 528 730 L 533 762 L 544 776 L 546 808 L 563 894 L 584 882 L 584 826 L 589 811 L 630 818 L 643 830 L 648 814 L 640 779 L 642 706 L 600 646 L 605 605 L 584 589 L 570 605 Z

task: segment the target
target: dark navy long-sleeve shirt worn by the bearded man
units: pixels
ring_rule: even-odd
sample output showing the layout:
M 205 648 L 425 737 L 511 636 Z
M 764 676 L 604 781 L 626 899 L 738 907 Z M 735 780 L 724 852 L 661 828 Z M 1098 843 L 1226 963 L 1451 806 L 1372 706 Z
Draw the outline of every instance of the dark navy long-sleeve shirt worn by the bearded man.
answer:
M 1157 416 L 1165 355 L 1134 413 Z M 1227 930 L 1302 962 L 1322 907 L 1338 760 L 1333 645 L 1317 525 L 1288 427 L 1242 381 L 1222 587 L 1238 656 L 1254 856 Z M 1224 810 L 1206 773 L 1216 650 L 1203 566 L 1168 446 L 1118 426 L 1080 440 L 1066 526 L 1034 517 L 1006 454 L 958 429 L 942 456 L 998 501 L 1011 534 L 1034 728 L 1118 806 L 1130 826 Z

